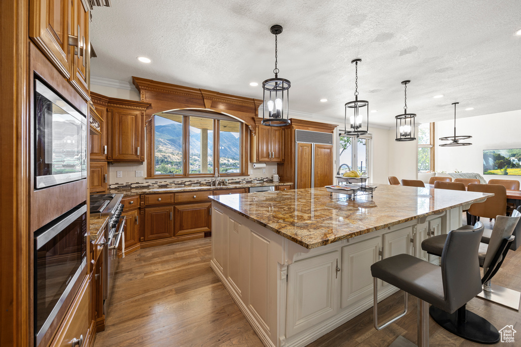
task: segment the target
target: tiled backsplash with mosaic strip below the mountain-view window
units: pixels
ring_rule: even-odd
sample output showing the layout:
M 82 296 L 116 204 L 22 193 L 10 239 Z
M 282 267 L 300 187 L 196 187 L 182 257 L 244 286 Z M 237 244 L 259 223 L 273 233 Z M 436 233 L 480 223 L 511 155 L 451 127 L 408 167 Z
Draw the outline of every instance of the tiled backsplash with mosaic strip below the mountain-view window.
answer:
M 191 186 L 199 184 L 201 186 L 209 186 L 213 177 L 179 177 L 179 178 L 156 178 L 156 179 L 145 179 L 145 177 L 136 177 L 136 171 L 143 171 L 143 175 L 146 176 L 146 164 L 130 164 L 130 163 L 109 163 L 109 189 L 115 188 L 141 188 L 141 187 L 159 187 L 167 188 L 171 186 Z M 263 170 L 266 173 L 263 173 Z M 274 173 L 275 170 L 275 173 Z M 117 172 L 121 171 L 122 177 L 117 177 Z M 274 174 L 277 173 L 277 164 L 266 164 L 265 168 L 254 169 L 253 164 L 249 164 L 248 176 L 230 176 L 221 174 L 221 181 L 228 179 L 229 184 L 234 183 L 251 183 L 252 181 L 264 181 L 270 179 Z

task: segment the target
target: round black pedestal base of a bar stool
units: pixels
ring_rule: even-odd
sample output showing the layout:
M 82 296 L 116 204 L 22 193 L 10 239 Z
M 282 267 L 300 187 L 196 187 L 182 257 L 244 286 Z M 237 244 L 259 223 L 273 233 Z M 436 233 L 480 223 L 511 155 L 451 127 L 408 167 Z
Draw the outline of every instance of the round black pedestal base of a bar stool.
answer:
M 429 313 L 442 328 L 461 338 L 483 344 L 499 342 L 498 329 L 487 319 L 467 311 L 465 305 L 452 314 L 430 306 Z

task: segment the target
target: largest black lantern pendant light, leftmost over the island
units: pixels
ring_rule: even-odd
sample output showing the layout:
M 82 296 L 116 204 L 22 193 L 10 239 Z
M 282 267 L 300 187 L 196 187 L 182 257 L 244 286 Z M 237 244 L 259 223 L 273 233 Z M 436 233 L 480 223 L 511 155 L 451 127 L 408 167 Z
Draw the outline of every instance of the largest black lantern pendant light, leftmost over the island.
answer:
M 263 120 L 268 126 L 284 126 L 290 123 L 288 119 L 288 89 L 291 82 L 279 78 L 277 69 L 277 35 L 282 32 L 281 25 L 273 25 L 270 32 L 275 35 L 275 78 L 267 79 L 262 83 L 264 89 Z

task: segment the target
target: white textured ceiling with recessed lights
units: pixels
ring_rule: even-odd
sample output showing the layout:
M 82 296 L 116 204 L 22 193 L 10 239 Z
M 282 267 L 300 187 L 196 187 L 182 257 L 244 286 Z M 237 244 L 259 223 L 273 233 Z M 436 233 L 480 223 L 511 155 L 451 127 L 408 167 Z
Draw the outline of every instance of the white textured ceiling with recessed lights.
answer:
M 359 97 L 378 110 L 369 114 L 373 124 L 393 126 L 403 113 L 403 80 L 412 81 L 408 110 L 421 123 L 450 119 L 455 101 L 458 117 L 521 109 L 519 0 L 111 4 L 92 13 L 92 76 L 130 82 L 135 75 L 262 99 L 275 61 L 269 28 L 281 24 L 279 76 L 291 81 L 291 110 L 343 120 L 354 58 L 362 58 Z M 438 94 L 444 97 L 433 98 Z

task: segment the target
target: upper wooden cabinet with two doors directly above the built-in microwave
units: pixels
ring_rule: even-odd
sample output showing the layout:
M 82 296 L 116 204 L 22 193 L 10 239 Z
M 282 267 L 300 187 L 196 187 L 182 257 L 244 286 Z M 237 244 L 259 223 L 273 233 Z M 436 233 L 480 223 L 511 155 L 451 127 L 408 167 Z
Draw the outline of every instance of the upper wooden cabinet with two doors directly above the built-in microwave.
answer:
M 89 8 L 82 0 L 34 0 L 30 2 L 29 36 L 89 100 Z

